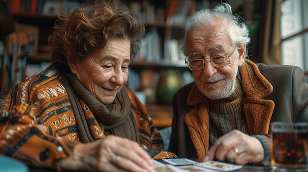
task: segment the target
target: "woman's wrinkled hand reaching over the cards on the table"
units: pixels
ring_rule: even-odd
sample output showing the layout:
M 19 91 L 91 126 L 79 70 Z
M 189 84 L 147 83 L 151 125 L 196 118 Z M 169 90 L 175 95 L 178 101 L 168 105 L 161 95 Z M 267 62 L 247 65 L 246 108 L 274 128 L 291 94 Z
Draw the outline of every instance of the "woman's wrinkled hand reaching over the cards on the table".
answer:
M 95 172 L 152 172 L 153 161 L 138 143 L 107 136 L 89 144 L 79 144 L 74 153 L 59 162 L 65 170 Z

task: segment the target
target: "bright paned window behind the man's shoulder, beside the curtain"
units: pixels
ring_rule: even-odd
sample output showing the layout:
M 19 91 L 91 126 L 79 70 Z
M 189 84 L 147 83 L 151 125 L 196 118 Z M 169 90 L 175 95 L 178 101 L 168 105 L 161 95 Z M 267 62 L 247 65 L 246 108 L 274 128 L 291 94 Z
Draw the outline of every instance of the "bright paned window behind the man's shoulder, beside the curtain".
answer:
M 306 9 L 306 10 L 304 10 Z M 282 64 L 308 71 L 308 0 L 281 3 Z

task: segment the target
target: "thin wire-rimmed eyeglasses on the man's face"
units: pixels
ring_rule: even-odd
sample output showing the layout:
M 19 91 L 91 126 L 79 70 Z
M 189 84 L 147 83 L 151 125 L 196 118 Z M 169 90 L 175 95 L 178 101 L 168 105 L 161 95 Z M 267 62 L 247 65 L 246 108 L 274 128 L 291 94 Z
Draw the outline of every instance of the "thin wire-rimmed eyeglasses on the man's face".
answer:
M 210 59 L 211 63 L 215 66 L 215 67 L 221 67 L 221 66 L 226 66 L 230 63 L 230 56 L 232 56 L 234 50 L 236 48 L 233 49 L 233 51 L 230 54 L 225 54 L 225 55 L 217 55 L 217 56 L 213 56 L 210 58 L 197 58 L 197 59 L 193 59 L 193 60 L 188 60 L 189 57 L 191 58 L 195 58 L 195 55 L 187 55 L 186 59 L 185 59 L 185 63 L 188 65 L 188 68 L 191 71 L 195 71 L 195 70 L 200 70 L 204 68 L 204 63 L 205 60 Z

